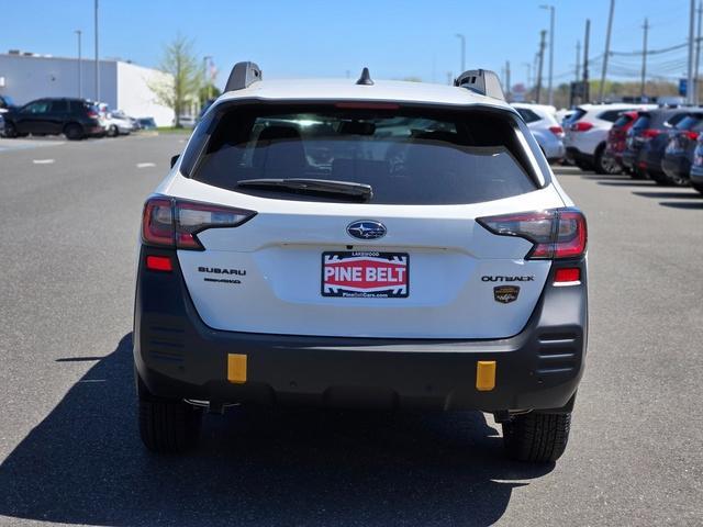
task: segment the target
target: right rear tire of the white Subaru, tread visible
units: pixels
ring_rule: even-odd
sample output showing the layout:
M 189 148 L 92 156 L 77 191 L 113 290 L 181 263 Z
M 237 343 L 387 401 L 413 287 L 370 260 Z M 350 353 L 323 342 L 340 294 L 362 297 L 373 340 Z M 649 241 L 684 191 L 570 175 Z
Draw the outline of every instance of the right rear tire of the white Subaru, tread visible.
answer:
M 567 448 L 570 427 L 570 413 L 516 415 L 503 423 L 507 456 L 531 463 L 556 461 Z

